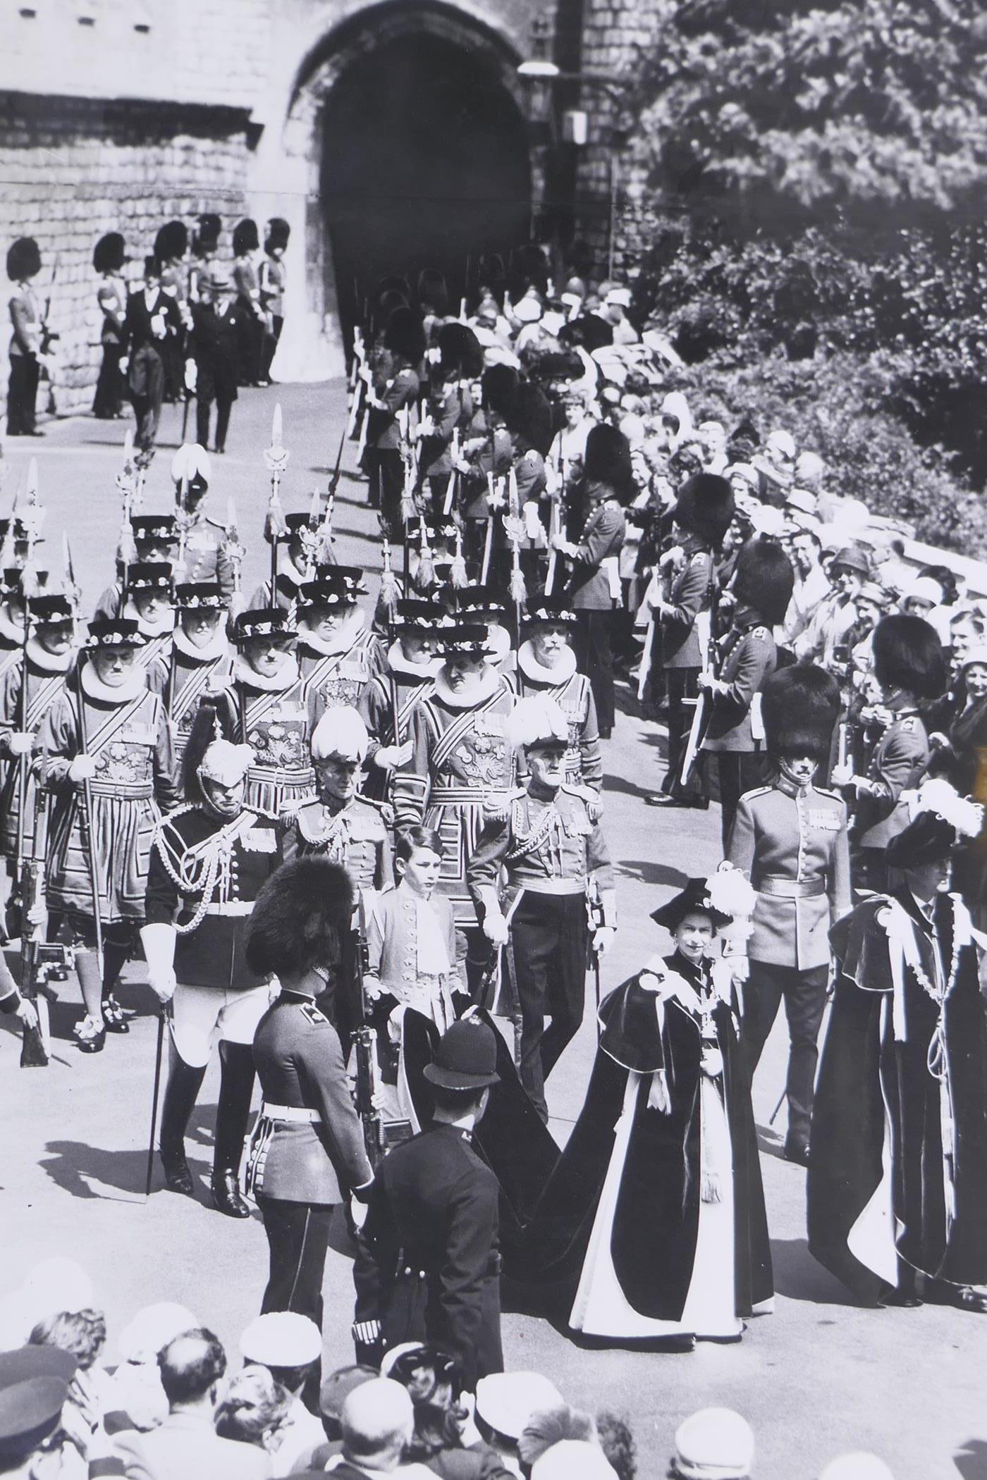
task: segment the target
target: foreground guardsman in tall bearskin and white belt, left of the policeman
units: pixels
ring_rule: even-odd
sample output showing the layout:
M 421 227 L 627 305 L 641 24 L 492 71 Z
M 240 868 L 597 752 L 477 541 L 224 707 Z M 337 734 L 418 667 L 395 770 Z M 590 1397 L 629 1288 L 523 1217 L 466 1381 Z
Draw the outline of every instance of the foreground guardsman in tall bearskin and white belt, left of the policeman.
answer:
M 257 1199 L 271 1259 L 260 1308 L 297 1311 L 320 1329 L 333 1208 L 348 1193 L 366 1197 L 373 1177 L 339 1035 L 315 1006 L 339 975 L 352 898 L 337 864 L 296 858 L 262 889 L 247 934 L 249 966 L 281 984 L 253 1042 L 263 1104 L 247 1190 Z M 314 1379 L 317 1397 L 318 1365 Z

